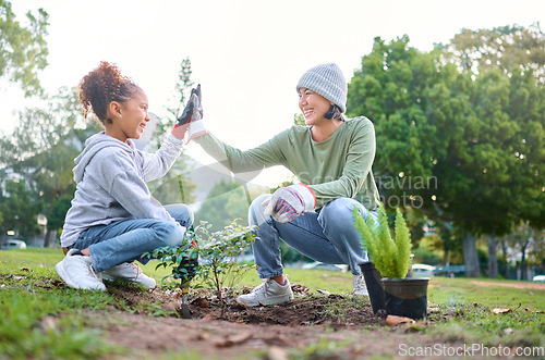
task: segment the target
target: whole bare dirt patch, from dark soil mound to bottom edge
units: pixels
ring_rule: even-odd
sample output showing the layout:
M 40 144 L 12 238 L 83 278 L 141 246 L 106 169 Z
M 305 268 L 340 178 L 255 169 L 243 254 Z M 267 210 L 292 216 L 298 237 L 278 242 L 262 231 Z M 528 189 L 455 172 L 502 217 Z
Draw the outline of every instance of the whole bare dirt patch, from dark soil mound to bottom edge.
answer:
M 400 358 L 400 344 L 436 343 L 415 327 L 385 326 L 385 318 L 373 314 L 368 298 L 310 294 L 296 284 L 292 288 L 292 301 L 255 308 L 238 305 L 238 294 L 229 289 L 223 294 L 225 307 L 210 290 L 192 290 L 192 319 L 186 320 L 172 312 L 181 303 L 175 291 L 109 287 L 108 291 L 123 299 L 120 302 L 129 305 L 132 312 L 111 309 L 102 314 L 104 319 L 93 312 L 88 321 L 106 330 L 110 342 L 129 349 L 131 359 L 159 353 L 167 358 L 179 352 L 187 356 L 191 351 L 215 359 L 363 359 L 377 355 Z M 250 289 L 238 293 L 246 291 Z M 170 312 L 165 316 L 150 315 L 161 309 Z

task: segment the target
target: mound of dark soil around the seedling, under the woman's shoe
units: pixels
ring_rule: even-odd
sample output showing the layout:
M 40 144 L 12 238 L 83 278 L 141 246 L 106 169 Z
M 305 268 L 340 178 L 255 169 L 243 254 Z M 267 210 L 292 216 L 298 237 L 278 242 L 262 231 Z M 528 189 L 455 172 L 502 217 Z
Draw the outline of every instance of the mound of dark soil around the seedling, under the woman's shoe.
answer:
M 234 299 L 251 289 L 223 289 L 223 303 L 209 289 L 192 289 L 187 299 L 192 319 L 223 320 L 243 324 L 270 325 L 330 325 L 334 328 L 384 324 L 383 315 L 373 314 L 367 297 L 353 295 L 334 295 L 311 291 L 301 285 L 292 284 L 294 299 L 289 302 L 249 308 L 239 305 Z M 108 291 L 135 309 L 145 313 L 144 302 L 160 306 L 171 311 L 173 316 L 181 314 L 181 294 L 179 291 L 155 289 L 143 293 L 135 287 L 111 286 Z M 138 310 L 141 309 L 141 310 Z M 175 310 L 172 312 L 172 310 Z

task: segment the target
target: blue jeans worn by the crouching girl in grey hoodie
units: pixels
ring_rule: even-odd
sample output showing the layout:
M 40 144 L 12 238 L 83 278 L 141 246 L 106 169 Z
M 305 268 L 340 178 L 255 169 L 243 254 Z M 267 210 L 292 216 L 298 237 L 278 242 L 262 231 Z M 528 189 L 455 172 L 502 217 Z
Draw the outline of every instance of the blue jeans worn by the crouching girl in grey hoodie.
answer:
M 143 253 L 161 246 L 180 246 L 184 236 L 180 225 L 190 227 L 193 224 L 193 212 L 187 206 L 171 204 L 165 209 L 177 223 L 155 219 L 128 219 L 97 225 L 84 231 L 72 248 L 89 248 L 97 273 L 132 260 L 145 264 L 149 259 L 143 257 Z

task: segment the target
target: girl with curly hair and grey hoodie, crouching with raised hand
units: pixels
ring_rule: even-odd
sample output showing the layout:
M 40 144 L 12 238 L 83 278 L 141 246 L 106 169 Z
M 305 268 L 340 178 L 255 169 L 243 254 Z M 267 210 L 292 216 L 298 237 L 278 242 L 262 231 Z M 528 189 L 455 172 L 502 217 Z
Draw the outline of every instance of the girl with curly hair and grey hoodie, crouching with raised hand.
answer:
M 84 76 L 78 100 L 105 131 L 92 136 L 75 159 L 76 191 L 66 213 L 61 245 L 68 253 L 56 265 L 71 287 L 105 290 L 101 281 L 123 278 L 155 287 L 133 261 L 146 263 L 143 253 L 161 246 L 179 246 L 193 213 L 184 204 L 154 202 L 145 182 L 164 176 L 182 151 L 187 125 L 172 129 L 156 153 L 135 148 L 149 122 L 146 94 L 116 65 L 101 62 Z M 195 119 L 196 97 L 180 119 Z

